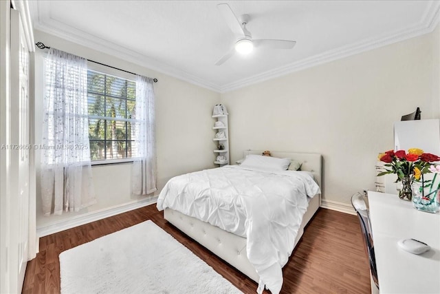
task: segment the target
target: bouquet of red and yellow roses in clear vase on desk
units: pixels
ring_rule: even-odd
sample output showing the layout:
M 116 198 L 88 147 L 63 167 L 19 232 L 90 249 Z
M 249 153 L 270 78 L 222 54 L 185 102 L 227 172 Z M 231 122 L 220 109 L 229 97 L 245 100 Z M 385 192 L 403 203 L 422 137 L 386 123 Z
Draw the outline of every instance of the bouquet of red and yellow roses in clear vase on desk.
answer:
M 405 150 L 386 151 L 379 154 L 379 160 L 385 162 L 384 169 L 377 176 L 384 176 L 386 174 L 396 174 L 396 182 L 402 183 L 402 189 L 399 191 L 399 198 L 404 200 L 412 200 L 411 185 L 413 182 L 420 182 L 421 187 L 428 187 L 433 182 L 423 182 L 423 174 L 431 173 L 432 165 L 440 160 L 440 157 L 430 153 L 424 153 L 422 149 L 411 148 L 406 153 Z M 440 170 L 439 170 L 440 172 Z

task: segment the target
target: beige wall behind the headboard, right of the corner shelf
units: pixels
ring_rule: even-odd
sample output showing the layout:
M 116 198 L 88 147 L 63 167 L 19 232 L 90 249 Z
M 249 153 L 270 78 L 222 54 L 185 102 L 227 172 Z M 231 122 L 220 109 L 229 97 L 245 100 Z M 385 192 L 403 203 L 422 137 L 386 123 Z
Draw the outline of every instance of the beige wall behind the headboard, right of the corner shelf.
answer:
M 221 95 L 231 160 L 244 149 L 324 158 L 324 199 L 375 189 L 375 160 L 393 149 L 393 122 L 421 107 L 439 118 L 439 30 Z M 417 144 L 415 145 L 415 147 Z

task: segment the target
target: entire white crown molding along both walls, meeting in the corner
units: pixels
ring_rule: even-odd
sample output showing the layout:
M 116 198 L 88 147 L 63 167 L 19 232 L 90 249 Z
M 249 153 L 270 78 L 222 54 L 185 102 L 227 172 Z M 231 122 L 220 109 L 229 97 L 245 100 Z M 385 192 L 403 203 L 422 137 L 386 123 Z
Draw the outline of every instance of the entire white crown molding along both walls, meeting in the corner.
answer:
M 238 90 L 239 88 L 246 87 L 248 85 L 254 85 L 256 83 L 261 83 L 263 81 L 270 80 L 272 78 L 277 78 L 279 76 L 285 76 L 286 74 L 291 74 L 293 72 L 298 72 L 300 70 L 305 70 L 309 67 L 314 67 L 316 65 L 322 65 L 324 63 L 329 63 L 331 61 L 336 61 L 338 59 L 343 59 L 348 56 L 373 50 L 376 48 L 383 47 L 385 45 L 390 45 L 397 43 L 399 41 L 404 41 L 406 39 L 414 38 L 415 36 L 421 36 L 432 32 L 437 24 L 439 23 L 439 9 L 440 1 L 430 1 L 423 17 L 419 23 L 412 25 L 404 30 L 399 30 L 393 32 L 392 34 L 377 36 L 372 39 L 363 40 L 358 43 L 352 43 L 335 50 L 329 50 L 323 52 L 322 54 L 317 54 L 311 56 L 307 59 L 302 59 L 294 63 L 289 63 L 283 65 L 282 67 L 277 67 L 274 70 L 269 70 L 261 74 L 256 74 L 254 76 L 249 76 L 248 78 L 243 78 L 234 83 L 229 83 L 226 85 L 217 85 L 215 83 L 210 83 L 203 78 L 199 78 L 193 74 L 190 74 L 184 70 L 180 70 L 177 67 L 163 63 L 156 59 L 152 59 L 148 56 L 142 55 L 133 50 L 124 48 L 121 45 L 111 43 L 104 39 L 100 39 L 96 36 L 77 30 L 75 28 L 69 27 L 64 23 L 55 21 L 50 18 L 50 3 L 49 1 L 30 1 L 32 19 L 34 28 L 36 30 L 41 30 L 47 34 L 52 34 L 58 36 L 61 39 L 67 41 L 72 41 L 79 45 L 83 45 L 87 48 L 104 52 L 111 56 L 118 57 L 125 61 L 135 63 L 137 65 L 142 65 L 148 69 L 155 70 L 162 74 L 168 76 L 173 76 L 182 81 L 192 83 L 199 87 L 212 90 L 214 92 L 225 93 L 233 90 Z M 47 44 L 50 45 L 50 44 Z

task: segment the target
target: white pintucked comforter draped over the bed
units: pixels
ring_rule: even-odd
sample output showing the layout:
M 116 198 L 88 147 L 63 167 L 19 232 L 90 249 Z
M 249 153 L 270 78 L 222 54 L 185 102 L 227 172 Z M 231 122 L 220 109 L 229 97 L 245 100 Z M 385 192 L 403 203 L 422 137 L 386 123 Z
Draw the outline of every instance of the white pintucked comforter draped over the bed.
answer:
M 307 196 L 318 193 L 320 188 L 305 171 L 225 166 L 170 179 L 160 192 L 157 209 L 169 207 L 247 238 L 248 259 L 260 276 L 257 292 L 266 287 L 276 294 Z

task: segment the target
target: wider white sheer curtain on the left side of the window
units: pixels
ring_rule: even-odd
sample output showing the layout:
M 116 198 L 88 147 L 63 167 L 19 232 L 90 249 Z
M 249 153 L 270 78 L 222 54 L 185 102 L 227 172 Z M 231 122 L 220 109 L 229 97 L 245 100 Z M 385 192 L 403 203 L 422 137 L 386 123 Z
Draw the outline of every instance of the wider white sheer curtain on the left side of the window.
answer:
M 49 50 L 43 111 L 43 213 L 79 211 L 96 202 L 91 182 L 87 60 Z

